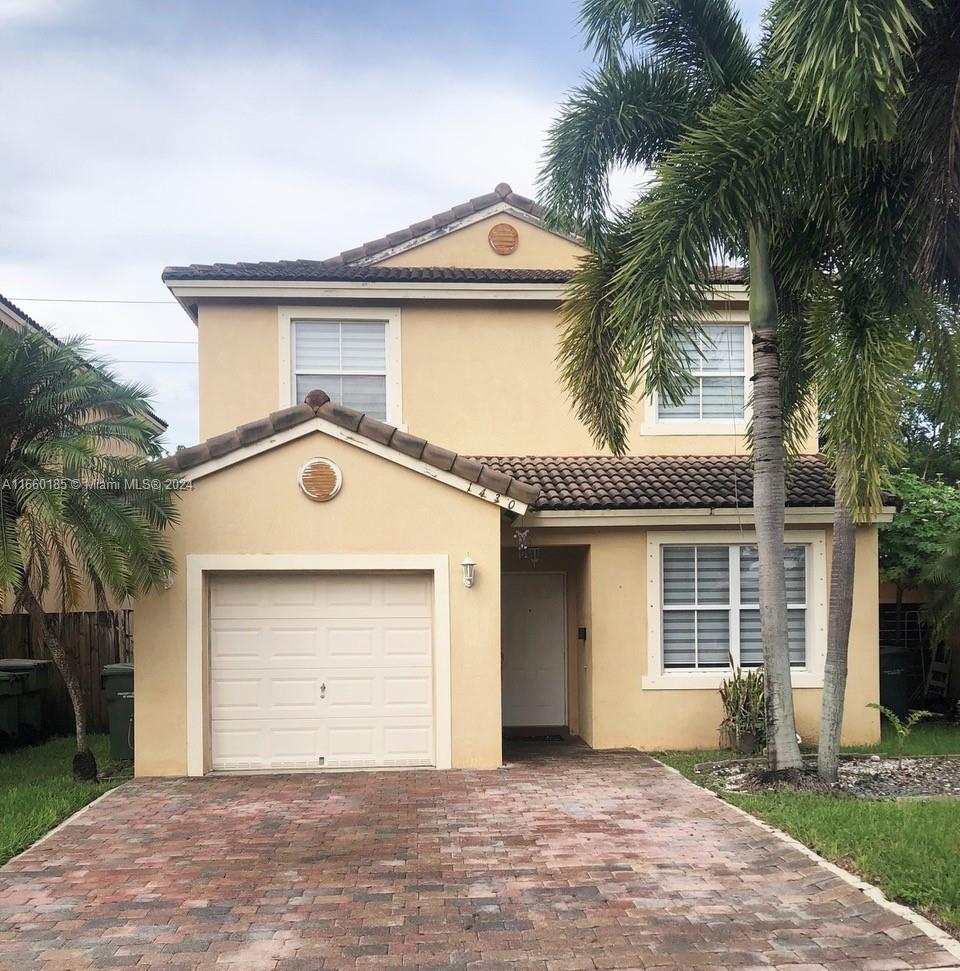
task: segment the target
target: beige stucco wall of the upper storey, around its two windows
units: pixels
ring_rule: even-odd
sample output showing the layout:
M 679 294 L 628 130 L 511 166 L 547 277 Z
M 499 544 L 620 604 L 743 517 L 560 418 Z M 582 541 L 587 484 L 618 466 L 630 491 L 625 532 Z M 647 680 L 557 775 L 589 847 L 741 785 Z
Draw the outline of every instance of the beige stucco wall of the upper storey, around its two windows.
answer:
M 600 451 L 557 373 L 556 305 L 420 300 L 394 306 L 401 317 L 403 423 L 410 431 L 470 455 Z M 746 320 L 740 304 L 718 306 L 718 314 Z M 203 304 L 198 326 L 202 438 L 280 407 L 277 304 Z M 746 452 L 733 423 L 709 426 L 710 434 L 650 434 L 647 410 L 647 402 L 637 402 L 634 454 Z M 805 450 L 816 451 L 815 435 Z

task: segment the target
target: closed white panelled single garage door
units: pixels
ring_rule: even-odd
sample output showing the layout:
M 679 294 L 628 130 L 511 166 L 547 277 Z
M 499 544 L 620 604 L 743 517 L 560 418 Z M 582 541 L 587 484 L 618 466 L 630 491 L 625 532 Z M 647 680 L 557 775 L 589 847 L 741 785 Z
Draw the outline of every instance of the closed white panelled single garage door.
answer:
M 432 765 L 431 602 L 425 574 L 214 577 L 213 768 Z

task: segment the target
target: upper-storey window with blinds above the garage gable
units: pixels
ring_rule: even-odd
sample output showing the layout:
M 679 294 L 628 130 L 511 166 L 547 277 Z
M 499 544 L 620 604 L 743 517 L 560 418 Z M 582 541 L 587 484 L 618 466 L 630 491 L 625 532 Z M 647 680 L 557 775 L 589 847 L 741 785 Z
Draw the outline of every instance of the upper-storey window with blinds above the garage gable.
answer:
M 294 320 L 296 401 L 314 388 L 371 418 L 387 417 L 387 322 Z

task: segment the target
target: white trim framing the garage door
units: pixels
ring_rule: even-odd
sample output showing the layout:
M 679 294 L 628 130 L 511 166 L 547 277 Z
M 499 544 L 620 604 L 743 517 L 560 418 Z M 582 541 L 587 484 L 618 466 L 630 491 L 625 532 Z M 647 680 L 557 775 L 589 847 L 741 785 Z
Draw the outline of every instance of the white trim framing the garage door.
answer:
M 459 572 L 459 567 L 457 568 Z M 219 554 L 187 556 L 187 775 L 210 770 L 208 579 L 214 573 L 391 572 L 433 576 L 434 758 L 438 769 L 453 764 L 450 661 L 450 559 L 444 554 Z M 318 770 L 322 771 L 322 770 Z

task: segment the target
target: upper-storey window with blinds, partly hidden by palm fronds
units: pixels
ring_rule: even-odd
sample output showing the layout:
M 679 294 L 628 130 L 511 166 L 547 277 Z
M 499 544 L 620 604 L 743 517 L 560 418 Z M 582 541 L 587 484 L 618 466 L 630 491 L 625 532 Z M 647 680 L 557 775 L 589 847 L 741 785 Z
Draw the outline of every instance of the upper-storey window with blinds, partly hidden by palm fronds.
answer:
M 657 403 L 660 421 L 742 419 L 746 408 L 746 327 L 742 324 L 707 324 L 685 349 L 690 358 L 694 386 L 678 405 Z

